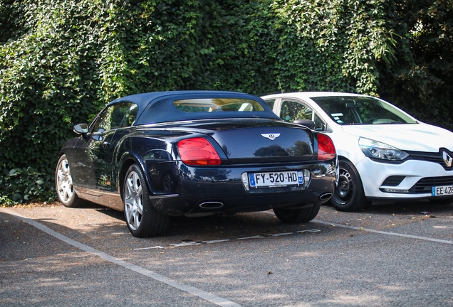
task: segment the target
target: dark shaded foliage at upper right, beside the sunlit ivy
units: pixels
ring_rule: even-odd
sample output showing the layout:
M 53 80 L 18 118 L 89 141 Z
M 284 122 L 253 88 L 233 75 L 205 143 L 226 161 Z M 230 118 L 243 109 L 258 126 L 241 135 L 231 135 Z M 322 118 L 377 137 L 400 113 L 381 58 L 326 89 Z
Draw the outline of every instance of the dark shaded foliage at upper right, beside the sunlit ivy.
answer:
M 452 1 L 395 0 L 388 7 L 397 48 L 392 65 L 379 67 L 381 97 L 452 130 Z

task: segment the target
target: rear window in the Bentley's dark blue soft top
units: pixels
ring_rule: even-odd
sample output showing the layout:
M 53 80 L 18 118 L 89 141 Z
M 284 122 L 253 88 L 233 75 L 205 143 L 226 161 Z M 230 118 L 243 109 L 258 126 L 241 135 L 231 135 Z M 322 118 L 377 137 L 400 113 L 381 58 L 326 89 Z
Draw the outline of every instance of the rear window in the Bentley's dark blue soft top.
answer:
M 256 112 L 264 111 L 259 102 L 251 99 L 206 98 L 175 100 L 175 107 L 182 112 Z

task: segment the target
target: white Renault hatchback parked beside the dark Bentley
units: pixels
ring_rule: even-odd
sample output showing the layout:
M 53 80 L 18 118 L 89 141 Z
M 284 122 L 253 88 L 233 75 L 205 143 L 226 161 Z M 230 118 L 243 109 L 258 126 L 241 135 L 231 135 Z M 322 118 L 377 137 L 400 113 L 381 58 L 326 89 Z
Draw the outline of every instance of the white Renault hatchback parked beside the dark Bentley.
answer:
M 453 133 L 382 99 L 340 92 L 262 97 L 287 122 L 328 133 L 340 160 L 330 203 L 355 211 L 371 201 L 453 202 Z

